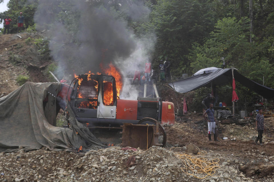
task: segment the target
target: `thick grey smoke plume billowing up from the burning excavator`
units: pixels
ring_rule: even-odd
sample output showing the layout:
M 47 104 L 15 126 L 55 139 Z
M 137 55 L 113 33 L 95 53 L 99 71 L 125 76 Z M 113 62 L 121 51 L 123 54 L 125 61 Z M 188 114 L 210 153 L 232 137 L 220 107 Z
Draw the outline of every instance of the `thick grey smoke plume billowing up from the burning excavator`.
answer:
M 57 74 L 102 72 L 101 63 L 113 63 L 125 76 L 137 63 L 144 65 L 154 41 L 134 38 L 126 20 L 148 13 L 140 0 L 40 0 L 35 22 L 49 30 Z

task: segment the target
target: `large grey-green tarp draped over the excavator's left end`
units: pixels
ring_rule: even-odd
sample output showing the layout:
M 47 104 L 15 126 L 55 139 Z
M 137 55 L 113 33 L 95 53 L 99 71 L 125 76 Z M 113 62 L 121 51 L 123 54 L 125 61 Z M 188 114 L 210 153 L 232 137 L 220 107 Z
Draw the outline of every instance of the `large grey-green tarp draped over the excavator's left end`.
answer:
M 69 128 L 53 126 L 60 88 L 60 83 L 27 82 L 0 98 L 0 152 L 11 152 L 19 146 L 25 150 L 45 146 L 49 150 L 66 151 L 77 151 L 80 146 L 104 146 L 75 119 L 72 111 L 68 118 Z M 69 105 L 67 109 L 70 109 Z

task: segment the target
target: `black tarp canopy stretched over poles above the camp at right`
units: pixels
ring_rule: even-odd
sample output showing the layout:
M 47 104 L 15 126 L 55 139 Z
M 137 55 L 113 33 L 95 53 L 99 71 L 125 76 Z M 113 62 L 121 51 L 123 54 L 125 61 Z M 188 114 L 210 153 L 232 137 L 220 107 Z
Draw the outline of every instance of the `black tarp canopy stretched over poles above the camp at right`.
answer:
M 250 80 L 249 78 L 246 78 L 245 76 L 241 75 L 236 69 L 234 69 L 234 78 L 237 82 L 253 90 L 264 98 L 274 97 L 274 89 L 263 86 L 257 82 L 254 82 L 253 80 Z M 174 88 L 176 92 L 186 93 L 201 88 L 202 86 L 211 86 L 211 84 L 223 85 L 228 82 L 232 82 L 231 68 L 217 69 L 212 73 L 202 73 L 194 75 L 189 78 L 175 81 L 173 83 L 171 82 L 169 83 L 169 85 Z

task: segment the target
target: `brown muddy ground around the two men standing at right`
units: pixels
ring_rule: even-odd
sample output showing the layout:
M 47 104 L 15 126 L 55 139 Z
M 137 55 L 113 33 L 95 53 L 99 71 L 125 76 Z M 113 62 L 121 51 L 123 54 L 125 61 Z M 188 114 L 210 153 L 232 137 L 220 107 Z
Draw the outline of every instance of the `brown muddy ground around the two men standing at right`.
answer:
M 203 123 L 195 123 L 195 121 L 201 119 L 201 116 L 190 116 L 190 119 L 186 123 L 176 123 L 173 127 L 166 128 L 168 143 L 173 145 L 179 144 L 179 146 L 193 143 L 201 150 L 213 150 L 223 155 L 236 156 L 246 161 L 253 160 L 256 155 L 261 154 L 263 151 L 268 156 L 274 156 L 274 138 L 272 137 L 274 128 L 273 118 L 266 118 L 265 125 L 267 126 L 267 131 L 263 134 L 264 146 L 254 144 L 256 131 L 252 127 L 253 125 L 255 126 L 255 123 L 251 123 L 249 127 L 245 125 L 219 124 L 221 132 L 218 134 L 218 140 L 220 141 L 214 142 L 209 141 L 207 138 L 207 127 L 204 127 Z M 231 128 L 233 128 L 233 131 L 240 130 L 242 132 L 235 132 L 234 134 L 237 133 L 237 135 L 233 135 L 233 133 L 231 135 L 229 134 Z M 221 138 L 223 137 L 228 137 L 228 139 L 222 140 Z M 235 138 L 236 140 L 231 140 L 231 138 Z

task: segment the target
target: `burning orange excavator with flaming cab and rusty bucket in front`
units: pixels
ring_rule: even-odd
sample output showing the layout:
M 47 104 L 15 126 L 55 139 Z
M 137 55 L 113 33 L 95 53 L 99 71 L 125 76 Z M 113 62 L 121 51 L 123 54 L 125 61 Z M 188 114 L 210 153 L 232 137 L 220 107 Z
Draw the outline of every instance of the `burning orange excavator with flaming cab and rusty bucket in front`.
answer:
M 75 77 L 69 87 L 63 86 L 59 97 L 66 98 L 75 118 L 102 142 L 122 140 L 123 146 L 136 148 L 166 144 L 164 126 L 172 126 L 175 121 L 172 102 L 160 98 L 120 99 L 120 75 L 116 79 L 100 73 Z

